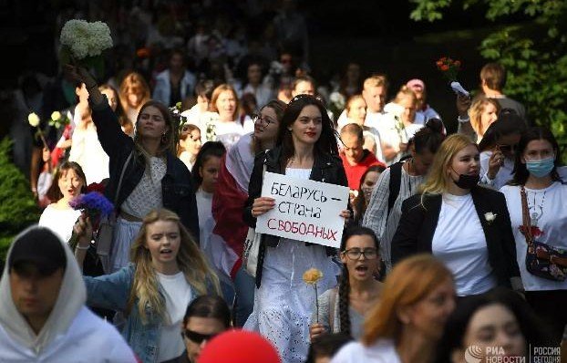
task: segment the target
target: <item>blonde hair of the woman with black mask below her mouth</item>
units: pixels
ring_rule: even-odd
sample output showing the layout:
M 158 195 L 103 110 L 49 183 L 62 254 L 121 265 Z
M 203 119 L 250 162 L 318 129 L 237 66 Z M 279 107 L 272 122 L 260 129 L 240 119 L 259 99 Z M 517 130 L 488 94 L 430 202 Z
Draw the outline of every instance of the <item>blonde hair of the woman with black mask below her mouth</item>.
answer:
M 419 187 L 419 191 L 423 196 L 426 194 L 441 194 L 448 191 L 448 183 L 450 182 L 447 177 L 448 166 L 453 161 L 455 155 L 469 145 L 474 145 L 477 149 L 479 148 L 476 143 L 463 134 L 450 135 L 441 143 L 433 158 L 428 176 Z

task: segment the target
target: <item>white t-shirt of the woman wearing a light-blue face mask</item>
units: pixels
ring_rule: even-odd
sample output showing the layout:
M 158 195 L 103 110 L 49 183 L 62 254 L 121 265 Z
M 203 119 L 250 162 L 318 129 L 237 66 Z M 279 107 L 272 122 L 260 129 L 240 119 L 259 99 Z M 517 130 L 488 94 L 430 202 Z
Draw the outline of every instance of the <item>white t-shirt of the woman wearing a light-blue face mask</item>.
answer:
M 520 266 L 521 281 L 527 291 L 565 290 L 567 281 L 555 282 L 531 275 L 526 270 L 528 245 L 520 232 L 523 225 L 520 186 L 506 185 L 500 189 L 506 197 L 512 232 L 516 241 L 516 258 Z M 537 225 L 542 234 L 535 240 L 567 250 L 567 184 L 555 181 L 545 189 L 526 188 L 526 199 L 531 214 L 531 225 Z M 498 218 L 498 217 L 497 217 Z

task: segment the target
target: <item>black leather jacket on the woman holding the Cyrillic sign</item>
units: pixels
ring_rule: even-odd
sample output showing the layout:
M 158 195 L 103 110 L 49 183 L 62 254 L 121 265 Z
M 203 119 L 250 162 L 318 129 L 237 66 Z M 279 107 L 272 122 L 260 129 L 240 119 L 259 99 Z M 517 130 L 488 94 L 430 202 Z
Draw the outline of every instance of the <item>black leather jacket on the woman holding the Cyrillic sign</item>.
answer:
M 252 205 L 254 199 L 260 197 L 262 193 L 262 173 L 263 164 L 266 164 L 266 171 L 275 172 L 278 174 L 283 174 L 282 168 L 280 166 L 280 157 L 282 154 L 282 148 L 276 147 L 273 150 L 267 152 L 262 152 L 256 155 L 254 160 L 254 168 L 252 171 L 252 176 L 250 177 L 250 184 L 248 185 L 248 200 L 246 201 L 246 206 L 243 211 L 244 222 L 251 227 L 256 226 L 256 218 L 252 215 Z M 345 168 L 343 167 L 343 161 L 338 156 L 335 155 L 315 155 L 313 169 L 311 170 L 311 175 L 309 179 L 312 181 L 322 181 L 329 184 L 348 186 L 348 181 L 346 180 Z M 350 210 L 350 204 L 348 206 Z M 258 256 L 258 271 L 256 273 L 256 285 L 260 286 L 262 280 L 262 269 L 263 269 L 263 257 L 265 254 L 265 247 L 275 247 L 280 241 L 280 237 L 263 234 L 262 245 L 260 247 L 260 254 Z M 305 243 L 306 245 L 311 245 Z M 335 248 L 327 247 L 327 254 L 333 255 L 336 253 Z

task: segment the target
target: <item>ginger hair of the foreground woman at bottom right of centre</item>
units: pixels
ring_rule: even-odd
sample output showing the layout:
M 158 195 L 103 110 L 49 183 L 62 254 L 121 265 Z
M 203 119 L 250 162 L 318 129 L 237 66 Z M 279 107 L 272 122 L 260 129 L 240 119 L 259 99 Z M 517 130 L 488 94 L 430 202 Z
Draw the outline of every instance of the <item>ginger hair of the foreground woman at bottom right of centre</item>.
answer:
M 399 309 L 418 304 L 448 279 L 451 272 L 431 254 L 417 254 L 396 264 L 387 275 L 379 304 L 366 317 L 362 342 L 369 346 L 378 338 L 399 341 L 404 328 Z

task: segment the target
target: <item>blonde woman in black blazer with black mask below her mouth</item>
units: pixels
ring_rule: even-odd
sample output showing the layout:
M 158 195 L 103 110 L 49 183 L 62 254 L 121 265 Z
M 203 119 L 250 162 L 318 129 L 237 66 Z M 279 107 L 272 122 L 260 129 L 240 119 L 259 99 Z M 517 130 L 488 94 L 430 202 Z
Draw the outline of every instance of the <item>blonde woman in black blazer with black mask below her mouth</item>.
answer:
M 393 264 L 411 254 L 433 254 L 455 276 L 459 296 L 497 285 L 521 289 L 506 200 L 479 186 L 479 171 L 479 148 L 469 137 L 443 141 L 420 194 L 402 203 Z

